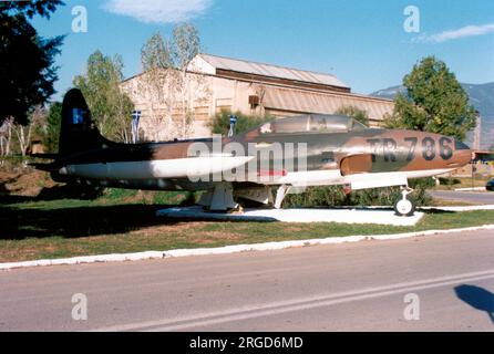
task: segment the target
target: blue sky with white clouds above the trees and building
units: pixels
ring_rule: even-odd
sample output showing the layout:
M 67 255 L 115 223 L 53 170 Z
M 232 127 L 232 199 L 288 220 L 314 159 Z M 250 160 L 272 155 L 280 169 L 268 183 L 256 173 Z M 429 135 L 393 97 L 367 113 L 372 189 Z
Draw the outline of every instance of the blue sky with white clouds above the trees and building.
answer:
M 71 30 L 76 6 L 88 10 L 85 33 Z M 403 29 L 408 6 L 420 10 L 419 33 Z M 332 73 L 357 93 L 400 84 L 430 54 L 462 82 L 494 81 L 492 0 L 65 0 L 33 20 L 43 37 L 66 34 L 54 98 L 97 49 L 121 54 L 126 77 L 140 73 L 145 41 L 179 21 L 198 28 L 204 52 Z

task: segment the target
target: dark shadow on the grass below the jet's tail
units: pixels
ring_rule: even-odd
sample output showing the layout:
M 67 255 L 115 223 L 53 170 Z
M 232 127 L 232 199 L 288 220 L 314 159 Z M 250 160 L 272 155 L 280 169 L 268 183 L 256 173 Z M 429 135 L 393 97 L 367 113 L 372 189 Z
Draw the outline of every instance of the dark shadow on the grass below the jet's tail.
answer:
M 25 238 L 81 238 L 89 236 L 125 233 L 145 227 L 175 225 L 183 220 L 156 217 L 156 211 L 177 207 L 166 204 L 125 204 L 116 198 L 111 205 L 88 202 L 63 208 L 71 200 L 96 200 L 104 188 L 79 185 L 60 185 L 43 188 L 35 197 L 11 194 L 6 184 L 0 184 L 0 240 L 21 240 Z M 24 202 L 55 201 L 56 207 L 22 207 Z M 116 202 L 115 202 L 116 201 Z M 183 200 L 181 206 L 193 202 L 193 196 Z

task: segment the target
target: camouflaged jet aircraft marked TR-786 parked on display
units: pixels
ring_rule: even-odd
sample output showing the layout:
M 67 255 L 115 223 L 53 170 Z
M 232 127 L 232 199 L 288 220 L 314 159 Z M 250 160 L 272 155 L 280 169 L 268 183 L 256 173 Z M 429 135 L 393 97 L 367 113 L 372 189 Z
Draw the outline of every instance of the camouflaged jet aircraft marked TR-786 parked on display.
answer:
M 212 211 L 236 208 L 235 197 L 280 208 L 287 194 L 308 186 L 401 186 L 395 210 L 410 216 L 410 178 L 445 174 L 471 156 L 452 137 L 368 128 L 347 116 L 315 114 L 275 119 L 217 142 L 119 144 L 99 133 L 81 92 L 71 90 L 63 102 L 59 154 L 37 168 L 63 183 L 204 190 L 200 204 Z

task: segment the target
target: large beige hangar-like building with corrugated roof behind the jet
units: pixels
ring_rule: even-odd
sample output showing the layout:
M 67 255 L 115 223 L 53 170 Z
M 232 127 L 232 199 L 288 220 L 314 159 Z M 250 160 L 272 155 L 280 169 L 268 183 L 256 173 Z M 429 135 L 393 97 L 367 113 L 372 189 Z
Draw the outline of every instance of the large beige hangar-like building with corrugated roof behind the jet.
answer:
M 150 118 L 151 111 L 156 110 L 143 94 L 144 75 L 124 81 L 122 87 L 142 111 L 142 127 L 146 132 L 152 128 L 150 125 L 156 126 Z M 187 77 L 188 94 L 184 101 L 194 121 L 191 137 L 209 136 L 207 123 L 222 110 L 282 117 L 335 114 L 342 107 L 354 106 L 368 113 L 371 125 L 378 125 L 394 107 L 391 100 L 351 93 L 350 86 L 331 74 L 217 55 L 198 54 L 187 67 Z M 184 101 L 158 110 L 159 114 L 168 112 L 172 121 L 178 122 Z

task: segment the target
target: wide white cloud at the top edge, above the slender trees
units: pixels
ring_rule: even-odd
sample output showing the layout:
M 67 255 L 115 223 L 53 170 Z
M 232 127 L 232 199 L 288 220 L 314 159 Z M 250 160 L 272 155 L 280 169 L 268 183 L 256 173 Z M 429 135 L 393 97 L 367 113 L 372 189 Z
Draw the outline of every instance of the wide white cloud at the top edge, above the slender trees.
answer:
M 204 13 L 213 0 L 107 0 L 103 9 L 145 23 L 176 23 Z

